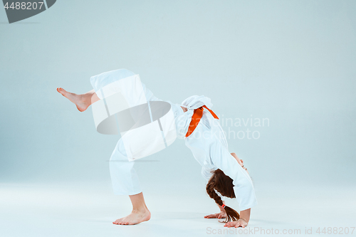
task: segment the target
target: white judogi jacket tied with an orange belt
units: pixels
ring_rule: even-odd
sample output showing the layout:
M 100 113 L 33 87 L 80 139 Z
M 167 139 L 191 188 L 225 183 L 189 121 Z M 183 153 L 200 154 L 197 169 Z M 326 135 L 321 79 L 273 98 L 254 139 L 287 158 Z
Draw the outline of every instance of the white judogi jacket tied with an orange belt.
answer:
M 212 107 L 209 98 L 197 95 L 187 98 L 182 105 L 188 108 L 188 111 L 184 112 L 188 126 L 194 109 L 202 105 L 206 105 L 209 109 Z M 185 126 L 182 130 L 187 132 L 188 127 Z M 185 139 L 185 144 L 192 150 L 197 162 L 201 164 L 201 174 L 206 181 L 209 181 L 211 172 L 216 169 L 221 169 L 224 174 L 234 180 L 234 192 L 241 211 L 257 205 L 251 177 L 230 154 L 219 120 L 216 120 L 209 110 L 204 109 L 203 117 L 194 132 Z

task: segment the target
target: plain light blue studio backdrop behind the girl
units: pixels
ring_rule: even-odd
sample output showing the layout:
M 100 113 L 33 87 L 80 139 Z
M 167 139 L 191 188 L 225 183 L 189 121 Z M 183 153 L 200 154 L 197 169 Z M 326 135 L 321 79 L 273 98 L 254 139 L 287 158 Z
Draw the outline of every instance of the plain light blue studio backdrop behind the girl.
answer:
M 258 132 L 228 141 L 256 184 L 355 184 L 355 12 L 356 1 L 82 0 L 9 24 L 0 10 L 0 181 L 108 184 L 117 137 L 56 88 L 85 93 L 90 76 L 127 68 L 163 100 L 206 95 L 221 119 L 267 118 L 224 126 Z M 145 159 L 144 189 L 204 183 L 182 140 Z

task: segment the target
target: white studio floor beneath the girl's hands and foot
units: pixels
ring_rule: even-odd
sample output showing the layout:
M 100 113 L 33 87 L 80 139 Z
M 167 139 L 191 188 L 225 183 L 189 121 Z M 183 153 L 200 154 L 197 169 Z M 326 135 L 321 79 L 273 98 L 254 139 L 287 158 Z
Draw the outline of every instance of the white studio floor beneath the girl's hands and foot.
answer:
M 112 221 L 129 214 L 131 205 L 127 196 L 114 196 L 109 183 L 0 185 L 0 236 L 6 237 L 275 236 L 276 230 L 279 236 L 283 231 L 289 236 L 356 235 L 352 228 L 356 226 L 355 187 L 256 186 L 258 206 L 248 227 L 242 229 L 204 219 L 218 210 L 204 190 L 147 192 L 151 220 L 116 226 Z M 227 201 L 237 205 L 236 200 Z M 312 234 L 306 234 L 310 228 Z M 345 234 L 347 228 L 349 234 Z

